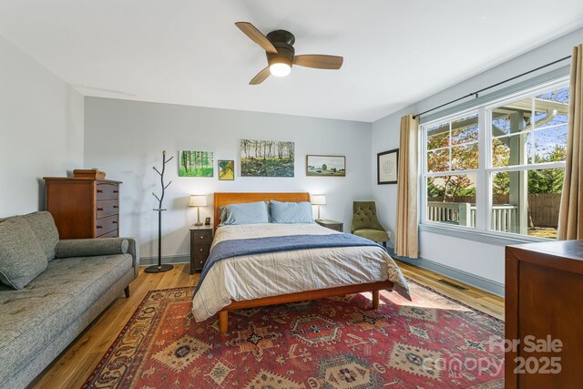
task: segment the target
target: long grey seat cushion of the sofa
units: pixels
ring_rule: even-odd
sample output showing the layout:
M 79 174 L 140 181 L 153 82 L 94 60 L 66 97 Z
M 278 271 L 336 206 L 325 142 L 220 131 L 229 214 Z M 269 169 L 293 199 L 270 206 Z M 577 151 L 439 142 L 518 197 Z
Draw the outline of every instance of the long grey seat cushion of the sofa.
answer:
M 0 286 L 0 383 L 133 271 L 132 261 L 129 254 L 56 259 L 23 291 Z

